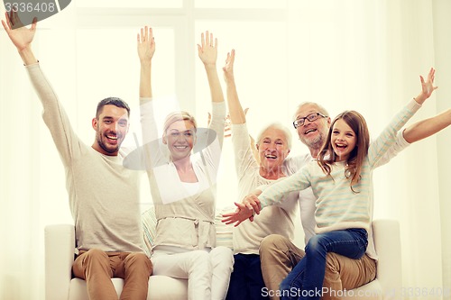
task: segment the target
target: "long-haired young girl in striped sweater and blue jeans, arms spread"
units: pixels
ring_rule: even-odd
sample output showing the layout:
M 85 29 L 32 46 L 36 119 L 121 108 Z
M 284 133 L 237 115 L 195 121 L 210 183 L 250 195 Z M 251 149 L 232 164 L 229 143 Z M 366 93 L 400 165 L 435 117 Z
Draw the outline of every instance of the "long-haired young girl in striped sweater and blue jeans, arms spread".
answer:
M 370 146 L 364 117 L 354 111 L 336 116 L 327 141 L 318 155 L 298 173 L 266 188 L 261 195 L 249 195 L 236 204 L 234 214 L 225 214 L 226 223 L 236 225 L 260 213 L 260 206 L 281 202 L 283 195 L 312 187 L 316 203 L 316 233 L 306 246 L 306 255 L 281 283 L 281 299 L 319 299 L 324 280 L 327 252 L 351 259 L 364 255 L 367 231 L 372 222 L 369 196 L 373 169 L 396 139 L 397 132 L 437 88 L 435 70 L 428 81 L 421 79 L 422 92 L 397 114 Z

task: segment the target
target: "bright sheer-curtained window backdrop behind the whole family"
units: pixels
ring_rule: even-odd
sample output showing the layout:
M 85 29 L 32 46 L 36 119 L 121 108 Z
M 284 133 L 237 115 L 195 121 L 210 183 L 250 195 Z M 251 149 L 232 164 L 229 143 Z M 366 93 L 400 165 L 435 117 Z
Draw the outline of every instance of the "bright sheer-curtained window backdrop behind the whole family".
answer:
M 437 68 L 439 89 L 410 123 L 449 107 L 447 0 L 289 0 L 277 5 L 174 0 L 168 8 L 150 3 L 157 9 L 140 8 L 148 4 L 139 1 L 130 1 L 124 10 L 122 2 L 79 0 L 39 24 L 33 50 L 87 144 L 94 138 L 89 124 L 102 96 L 136 100 L 133 41 L 144 24 L 157 33 L 156 96 L 178 100 L 200 124 L 207 123 L 209 95 L 195 45 L 206 30 L 219 39 L 218 72 L 226 52 L 236 49 L 238 92 L 250 108 L 253 135 L 272 121 L 290 126 L 296 105 L 316 101 L 332 116 L 345 109 L 361 112 L 375 137 L 418 95 L 419 75 L 430 67 Z M 3 29 L 0 53 L 0 299 L 43 299 L 43 227 L 72 222 L 64 170 L 41 120 L 41 104 Z M 406 298 L 451 298 L 450 137 L 446 129 L 419 141 L 374 174 L 375 217 L 400 221 Z M 304 151 L 294 138 L 291 154 Z M 233 154 L 224 154 L 220 205 L 230 205 L 234 195 L 226 191 L 235 185 L 229 168 Z

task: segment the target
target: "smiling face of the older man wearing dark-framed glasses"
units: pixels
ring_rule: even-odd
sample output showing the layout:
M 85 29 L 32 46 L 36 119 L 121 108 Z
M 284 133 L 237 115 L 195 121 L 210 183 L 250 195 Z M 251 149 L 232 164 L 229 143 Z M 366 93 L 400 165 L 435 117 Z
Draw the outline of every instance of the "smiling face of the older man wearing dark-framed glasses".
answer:
M 298 111 L 295 114 L 295 120 L 304 118 L 309 114 L 321 113 L 318 105 L 306 104 L 299 106 Z M 304 143 L 310 152 L 318 152 L 326 141 L 327 132 L 330 127 L 330 118 L 319 116 L 317 120 L 309 122 L 307 119 L 296 130 L 298 131 L 299 140 Z

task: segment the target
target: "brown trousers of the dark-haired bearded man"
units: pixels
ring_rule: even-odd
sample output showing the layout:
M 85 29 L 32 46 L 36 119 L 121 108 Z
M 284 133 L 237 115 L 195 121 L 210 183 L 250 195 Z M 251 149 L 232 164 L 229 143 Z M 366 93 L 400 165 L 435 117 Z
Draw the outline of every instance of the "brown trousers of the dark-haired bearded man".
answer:
M 145 300 L 152 262 L 144 253 L 81 250 L 72 265 L 75 277 L 87 282 L 90 300 L 117 300 L 112 277 L 124 279 L 121 300 Z

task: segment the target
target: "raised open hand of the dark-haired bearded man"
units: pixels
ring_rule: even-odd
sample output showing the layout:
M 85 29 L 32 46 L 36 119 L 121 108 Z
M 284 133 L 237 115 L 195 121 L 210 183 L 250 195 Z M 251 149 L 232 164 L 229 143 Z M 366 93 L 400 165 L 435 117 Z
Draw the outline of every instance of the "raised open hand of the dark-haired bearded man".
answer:
M 19 15 L 17 12 L 14 12 L 14 10 L 11 10 L 9 15 L 8 13 L 5 13 L 5 19 L 6 21 L 2 20 L 2 25 L 17 50 L 21 52 L 30 48 L 34 33 L 36 32 L 36 23 L 38 22 L 38 19 L 34 18 L 32 20 L 32 27 L 30 29 L 23 26 L 23 23 L 19 19 Z M 16 29 L 13 29 L 13 27 L 16 27 Z

